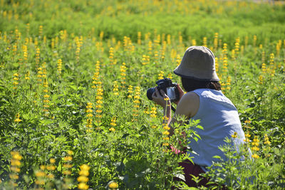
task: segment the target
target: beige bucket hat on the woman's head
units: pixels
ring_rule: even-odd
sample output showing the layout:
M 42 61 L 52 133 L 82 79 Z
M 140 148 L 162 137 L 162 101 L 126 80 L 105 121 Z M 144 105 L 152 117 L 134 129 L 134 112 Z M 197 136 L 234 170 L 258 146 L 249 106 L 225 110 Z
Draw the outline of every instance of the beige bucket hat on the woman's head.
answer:
M 182 78 L 219 81 L 214 66 L 214 54 L 204 46 L 187 48 L 180 65 L 173 71 Z

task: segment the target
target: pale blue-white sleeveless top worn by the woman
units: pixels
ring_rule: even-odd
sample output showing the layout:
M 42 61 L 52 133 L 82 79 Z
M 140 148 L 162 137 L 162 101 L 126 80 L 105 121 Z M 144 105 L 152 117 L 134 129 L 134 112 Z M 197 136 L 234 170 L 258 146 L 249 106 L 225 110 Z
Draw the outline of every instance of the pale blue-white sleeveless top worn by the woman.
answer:
M 244 143 L 244 131 L 239 120 L 237 108 L 234 107 L 231 100 L 224 96 L 222 91 L 211 89 L 197 89 L 192 91 L 199 95 L 199 110 L 190 120 L 200 120 L 204 130 L 195 128 L 197 134 L 201 137 L 197 142 L 192 139 L 190 147 L 197 154 L 188 152 L 195 164 L 202 169 L 212 165 L 212 162 L 219 162 L 214 159 L 215 155 L 226 159 L 219 146 L 225 144 L 226 137 L 231 138 L 234 132 L 237 132 L 237 138 L 234 138 L 234 147 Z M 232 144 L 233 145 L 233 144 Z

